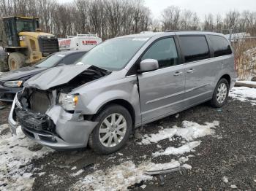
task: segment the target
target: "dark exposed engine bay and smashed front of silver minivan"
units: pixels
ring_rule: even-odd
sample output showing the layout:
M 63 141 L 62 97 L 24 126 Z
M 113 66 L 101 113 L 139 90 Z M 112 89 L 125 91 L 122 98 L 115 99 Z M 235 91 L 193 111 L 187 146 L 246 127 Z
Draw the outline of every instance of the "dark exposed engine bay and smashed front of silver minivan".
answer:
M 16 120 L 26 128 L 56 135 L 56 121 L 53 117 L 49 117 L 47 112 L 54 106 L 61 105 L 59 103 L 60 95 L 67 95 L 76 87 L 105 77 L 108 74 L 110 72 L 90 66 L 85 71 L 80 72 L 80 74 L 70 79 L 69 82 L 50 87 L 48 90 L 40 90 L 37 87 L 29 87 L 27 85 L 22 92 L 17 94 Z M 72 113 L 74 111 L 66 110 L 66 112 Z

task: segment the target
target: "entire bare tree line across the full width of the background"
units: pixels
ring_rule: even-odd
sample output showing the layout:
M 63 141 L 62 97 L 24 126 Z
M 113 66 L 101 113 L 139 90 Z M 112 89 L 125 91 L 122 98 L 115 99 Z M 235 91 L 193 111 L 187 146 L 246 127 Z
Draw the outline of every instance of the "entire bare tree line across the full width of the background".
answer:
M 206 30 L 228 34 L 249 32 L 256 35 L 256 12 L 230 11 L 224 16 L 170 6 L 153 19 L 143 0 L 74 0 L 60 4 L 54 0 L 0 0 L 0 17 L 11 15 L 39 17 L 42 31 L 59 37 L 98 34 L 109 39 L 141 31 Z M 0 23 L 0 34 L 3 31 Z M 0 37 L 1 38 L 1 37 Z

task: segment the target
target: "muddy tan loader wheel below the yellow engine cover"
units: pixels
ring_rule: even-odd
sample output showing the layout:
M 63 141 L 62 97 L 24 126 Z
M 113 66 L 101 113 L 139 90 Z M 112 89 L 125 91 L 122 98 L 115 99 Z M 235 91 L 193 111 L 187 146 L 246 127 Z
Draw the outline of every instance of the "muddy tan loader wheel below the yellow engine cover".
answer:
M 10 71 L 20 69 L 25 65 L 25 56 L 20 52 L 12 52 L 8 58 Z

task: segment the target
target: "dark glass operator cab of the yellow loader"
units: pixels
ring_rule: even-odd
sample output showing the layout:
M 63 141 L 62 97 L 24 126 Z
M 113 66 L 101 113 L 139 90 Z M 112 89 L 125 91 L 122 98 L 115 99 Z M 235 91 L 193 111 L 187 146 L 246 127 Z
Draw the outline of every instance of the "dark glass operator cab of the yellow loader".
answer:
M 33 17 L 4 17 L 3 21 L 8 47 L 20 47 L 20 32 L 35 32 L 39 28 L 39 19 Z

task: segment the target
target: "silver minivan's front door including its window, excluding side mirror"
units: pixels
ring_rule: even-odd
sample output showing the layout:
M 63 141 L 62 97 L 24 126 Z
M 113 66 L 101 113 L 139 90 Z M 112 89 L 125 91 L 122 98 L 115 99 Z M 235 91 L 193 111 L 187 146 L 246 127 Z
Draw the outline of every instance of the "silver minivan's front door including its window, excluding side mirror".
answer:
M 142 121 L 149 122 L 184 106 L 185 79 L 173 37 L 154 42 L 141 61 L 145 59 L 159 63 L 159 69 L 138 74 Z

